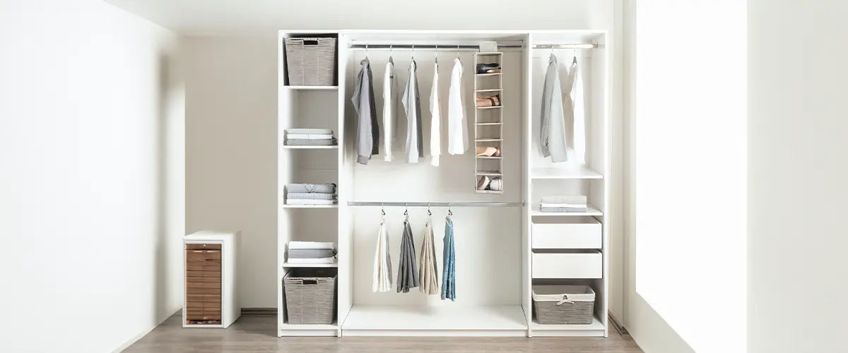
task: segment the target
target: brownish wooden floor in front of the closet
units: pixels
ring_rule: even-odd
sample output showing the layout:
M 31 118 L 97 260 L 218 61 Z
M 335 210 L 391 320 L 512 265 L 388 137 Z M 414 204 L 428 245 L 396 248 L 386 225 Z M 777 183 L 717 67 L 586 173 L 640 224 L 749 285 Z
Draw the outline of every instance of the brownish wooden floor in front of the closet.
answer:
M 182 328 L 177 312 L 124 350 L 126 353 L 642 353 L 629 336 L 610 338 L 383 338 L 276 337 L 276 317 L 242 316 L 230 328 Z

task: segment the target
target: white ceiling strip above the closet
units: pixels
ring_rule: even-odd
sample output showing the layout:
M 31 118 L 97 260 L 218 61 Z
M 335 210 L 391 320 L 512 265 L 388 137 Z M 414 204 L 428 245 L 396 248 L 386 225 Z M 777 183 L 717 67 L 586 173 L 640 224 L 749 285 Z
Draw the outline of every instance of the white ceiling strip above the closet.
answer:
M 189 36 L 275 36 L 276 30 L 609 29 L 614 0 L 104 0 Z M 530 5 L 532 4 L 532 6 Z

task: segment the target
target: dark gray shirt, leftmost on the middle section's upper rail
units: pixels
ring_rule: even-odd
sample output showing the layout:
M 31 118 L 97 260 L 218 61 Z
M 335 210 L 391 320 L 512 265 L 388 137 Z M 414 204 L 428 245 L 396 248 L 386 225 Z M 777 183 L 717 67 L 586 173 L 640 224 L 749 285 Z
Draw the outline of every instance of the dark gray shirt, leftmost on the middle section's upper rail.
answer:
M 368 58 L 361 62 L 362 69 L 356 75 L 354 103 L 359 122 L 356 128 L 356 162 L 368 164 L 371 156 L 379 151 L 380 127 L 377 125 L 377 103 L 374 102 L 374 80 L 371 76 L 371 62 Z

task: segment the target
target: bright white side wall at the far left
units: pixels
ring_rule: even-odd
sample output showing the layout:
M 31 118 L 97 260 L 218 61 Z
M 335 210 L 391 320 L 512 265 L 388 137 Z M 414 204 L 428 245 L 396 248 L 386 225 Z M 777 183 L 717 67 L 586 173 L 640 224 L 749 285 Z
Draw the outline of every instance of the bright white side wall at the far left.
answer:
M 98 0 L 0 7 L 0 347 L 109 352 L 182 304 L 176 36 Z

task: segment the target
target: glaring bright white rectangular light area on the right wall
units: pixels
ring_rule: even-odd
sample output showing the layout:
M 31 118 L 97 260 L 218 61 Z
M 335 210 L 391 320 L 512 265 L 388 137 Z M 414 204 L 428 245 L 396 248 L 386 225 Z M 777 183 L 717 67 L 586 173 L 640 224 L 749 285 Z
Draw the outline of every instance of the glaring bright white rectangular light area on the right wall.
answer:
M 746 2 L 637 3 L 636 291 L 696 352 L 744 352 Z

